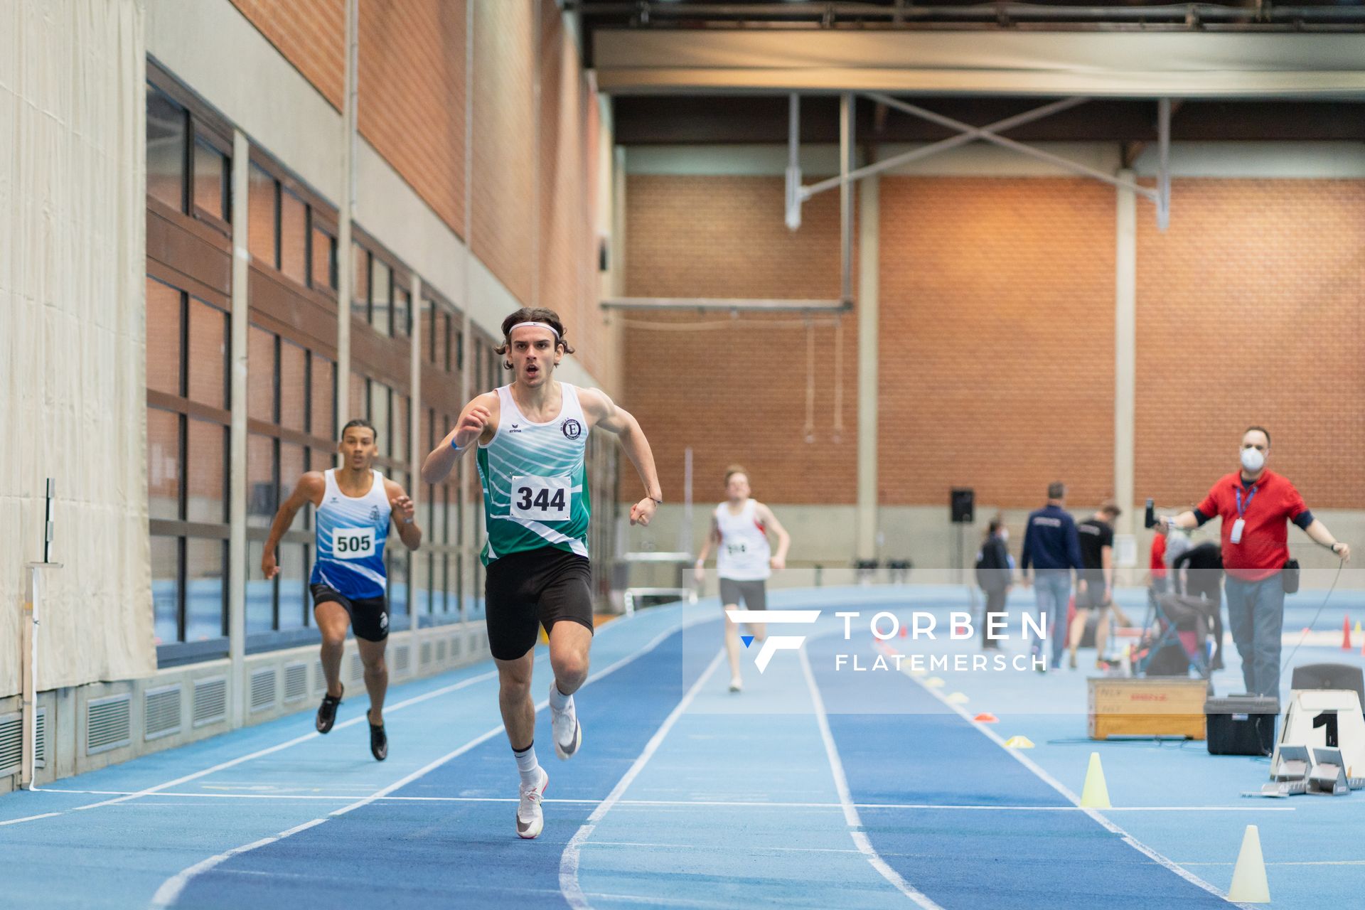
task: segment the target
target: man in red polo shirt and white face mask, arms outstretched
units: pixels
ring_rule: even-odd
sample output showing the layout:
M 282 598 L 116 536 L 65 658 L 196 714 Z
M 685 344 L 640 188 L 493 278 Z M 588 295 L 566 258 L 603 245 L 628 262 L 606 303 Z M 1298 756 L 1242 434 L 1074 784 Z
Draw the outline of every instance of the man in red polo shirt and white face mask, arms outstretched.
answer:
M 1269 452 L 1271 434 L 1263 427 L 1248 428 L 1242 434 L 1241 471 L 1220 478 L 1197 509 L 1163 517 L 1158 524 L 1163 531 L 1170 525 L 1190 529 L 1213 516 L 1223 518 L 1227 619 L 1242 655 L 1242 678 L 1248 692 L 1279 697 L 1286 523 L 1293 521 L 1343 561 L 1350 559 L 1351 548 L 1313 517 L 1293 483 L 1265 467 Z

